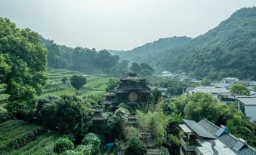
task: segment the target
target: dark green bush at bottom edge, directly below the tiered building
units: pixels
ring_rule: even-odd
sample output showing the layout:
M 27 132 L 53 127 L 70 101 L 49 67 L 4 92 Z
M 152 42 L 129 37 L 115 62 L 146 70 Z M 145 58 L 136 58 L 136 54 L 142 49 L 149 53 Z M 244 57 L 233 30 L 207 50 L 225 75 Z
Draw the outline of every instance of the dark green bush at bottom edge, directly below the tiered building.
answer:
M 128 138 L 126 143 L 125 154 L 146 155 L 147 147 L 142 141 L 140 141 L 140 139 L 132 136 L 131 138 Z

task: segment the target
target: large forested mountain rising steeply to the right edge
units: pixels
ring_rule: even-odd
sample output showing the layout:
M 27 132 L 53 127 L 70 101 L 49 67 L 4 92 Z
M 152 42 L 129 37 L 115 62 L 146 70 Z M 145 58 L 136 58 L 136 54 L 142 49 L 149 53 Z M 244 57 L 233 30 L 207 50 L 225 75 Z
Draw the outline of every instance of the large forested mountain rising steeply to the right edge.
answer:
M 141 47 L 143 49 L 143 47 Z M 135 49 L 134 49 L 135 50 Z M 234 76 L 256 79 L 256 8 L 242 8 L 205 35 L 168 50 L 138 57 L 135 52 L 119 54 L 140 59 L 168 71 L 186 71 L 197 78 Z M 137 48 L 137 53 L 145 50 Z M 156 52 L 157 51 L 157 52 Z

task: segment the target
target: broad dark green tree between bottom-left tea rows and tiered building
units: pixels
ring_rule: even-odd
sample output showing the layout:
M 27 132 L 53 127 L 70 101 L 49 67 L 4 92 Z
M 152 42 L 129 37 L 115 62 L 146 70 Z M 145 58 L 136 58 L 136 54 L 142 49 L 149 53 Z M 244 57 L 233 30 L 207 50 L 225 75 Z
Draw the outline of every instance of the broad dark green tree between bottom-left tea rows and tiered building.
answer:
M 76 96 L 61 96 L 61 99 L 46 102 L 38 110 L 38 117 L 50 129 L 64 133 L 85 135 L 91 126 L 91 109 Z

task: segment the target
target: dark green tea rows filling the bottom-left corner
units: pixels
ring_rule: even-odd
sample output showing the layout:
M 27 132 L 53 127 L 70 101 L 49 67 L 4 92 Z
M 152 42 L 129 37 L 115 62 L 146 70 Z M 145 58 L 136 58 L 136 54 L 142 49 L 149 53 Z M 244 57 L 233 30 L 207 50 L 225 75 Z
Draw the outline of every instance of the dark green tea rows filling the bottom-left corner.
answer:
M 42 126 L 23 120 L 7 120 L 0 123 L 0 154 L 39 154 L 46 147 L 52 147 L 60 137 Z

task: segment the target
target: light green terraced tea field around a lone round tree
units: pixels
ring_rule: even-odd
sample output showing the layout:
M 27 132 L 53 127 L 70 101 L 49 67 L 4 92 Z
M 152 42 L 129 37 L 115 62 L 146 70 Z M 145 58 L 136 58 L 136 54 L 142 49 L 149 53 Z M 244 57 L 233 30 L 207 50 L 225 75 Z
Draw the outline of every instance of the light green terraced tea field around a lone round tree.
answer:
M 103 96 L 106 90 L 107 83 L 109 81 L 109 75 L 101 73 L 81 73 L 79 71 L 69 71 L 66 69 L 53 69 L 48 71 L 49 79 L 47 81 L 44 90 L 42 91 L 43 96 L 48 95 L 66 95 L 76 94 L 77 96 Z M 81 90 L 75 90 L 70 84 L 70 78 L 72 75 L 82 75 L 87 78 L 87 84 L 82 87 Z M 62 78 L 66 77 L 66 84 L 61 81 Z

